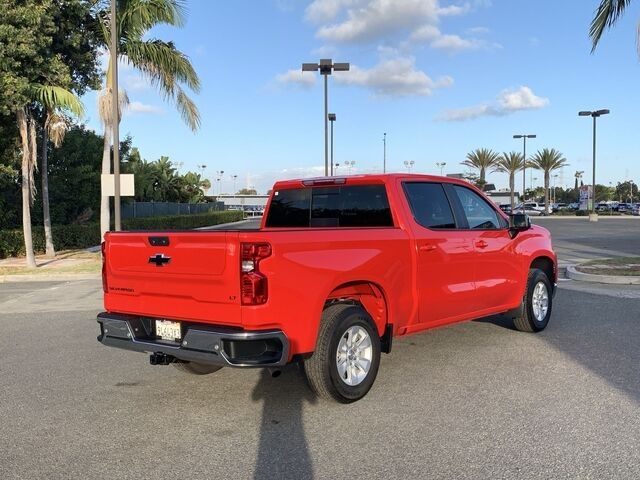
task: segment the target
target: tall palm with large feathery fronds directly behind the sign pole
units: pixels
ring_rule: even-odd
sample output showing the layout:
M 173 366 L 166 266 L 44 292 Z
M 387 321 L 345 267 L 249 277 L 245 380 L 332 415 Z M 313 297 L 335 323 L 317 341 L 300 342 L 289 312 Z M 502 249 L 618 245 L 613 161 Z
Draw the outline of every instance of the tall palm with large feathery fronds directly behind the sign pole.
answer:
M 104 33 L 103 47 L 111 55 L 109 46 L 111 25 L 108 9 L 100 14 Z M 120 0 L 118 1 L 117 34 L 118 59 L 137 68 L 165 100 L 173 102 L 185 123 L 196 131 L 200 127 L 200 113 L 195 103 L 185 93 L 182 85 L 194 92 L 200 90 L 200 80 L 188 57 L 176 49 L 173 42 L 147 38 L 158 25 L 181 27 L 184 25 L 184 8 L 181 0 Z M 111 75 L 107 71 L 104 88 L 100 93 L 100 114 L 104 125 L 104 150 L 102 173 L 111 173 L 110 140 L 114 121 L 108 113 L 111 93 Z M 120 98 L 121 107 L 127 103 L 126 94 Z M 119 115 L 121 116 L 121 115 Z M 100 209 L 101 234 L 109 230 L 109 197 L 102 197 Z

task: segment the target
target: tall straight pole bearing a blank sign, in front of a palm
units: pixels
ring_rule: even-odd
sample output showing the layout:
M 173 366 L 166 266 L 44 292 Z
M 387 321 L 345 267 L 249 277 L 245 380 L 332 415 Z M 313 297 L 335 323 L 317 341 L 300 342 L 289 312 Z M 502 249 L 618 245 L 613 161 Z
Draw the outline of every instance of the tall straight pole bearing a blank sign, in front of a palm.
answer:
M 113 215 L 116 232 L 122 229 L 120 214 L 120 105 L 118 105 L 118 22 L 116 0 L 111 0 L 111 130 L 113 136 Z

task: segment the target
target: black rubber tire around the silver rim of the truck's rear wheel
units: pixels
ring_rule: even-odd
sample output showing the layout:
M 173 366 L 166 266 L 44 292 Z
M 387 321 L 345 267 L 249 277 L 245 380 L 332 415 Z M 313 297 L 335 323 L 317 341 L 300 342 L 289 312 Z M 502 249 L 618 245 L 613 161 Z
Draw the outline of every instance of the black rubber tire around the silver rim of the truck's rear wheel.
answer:
M 364 379 L 348 385 L 337 366 L 338 345 L 351 327 L 362 327 L 371 340 L 371 363 Z M 304 361 L 304 372 L 311 389 L 319 396 L 340 403 L 360 400 L 371 389 L 380 366 L 380 337 L 373 320 L 360 306 L 331 305 L 322 313 L 316 350 Z

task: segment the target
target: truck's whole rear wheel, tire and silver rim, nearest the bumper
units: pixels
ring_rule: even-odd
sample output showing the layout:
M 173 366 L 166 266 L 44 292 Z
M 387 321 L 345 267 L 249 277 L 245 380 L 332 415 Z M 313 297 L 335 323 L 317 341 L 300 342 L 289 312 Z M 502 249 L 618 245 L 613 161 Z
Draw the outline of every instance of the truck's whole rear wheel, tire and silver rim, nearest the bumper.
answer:
M 304 362 L 311 389 L 340 403 L 355 402 L 371 389 L 379 365 L 380 337 L 369 314 L 351 304 L 327 308 L 316 351 Z

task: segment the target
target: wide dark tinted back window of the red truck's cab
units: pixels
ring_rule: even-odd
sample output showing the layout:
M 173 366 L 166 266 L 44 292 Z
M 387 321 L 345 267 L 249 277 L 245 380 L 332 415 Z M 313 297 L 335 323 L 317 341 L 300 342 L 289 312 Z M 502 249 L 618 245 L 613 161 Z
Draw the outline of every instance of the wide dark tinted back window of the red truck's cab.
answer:
M 384 185 L 308 187 L 274 192 L 267 227 L 392 227 Z

